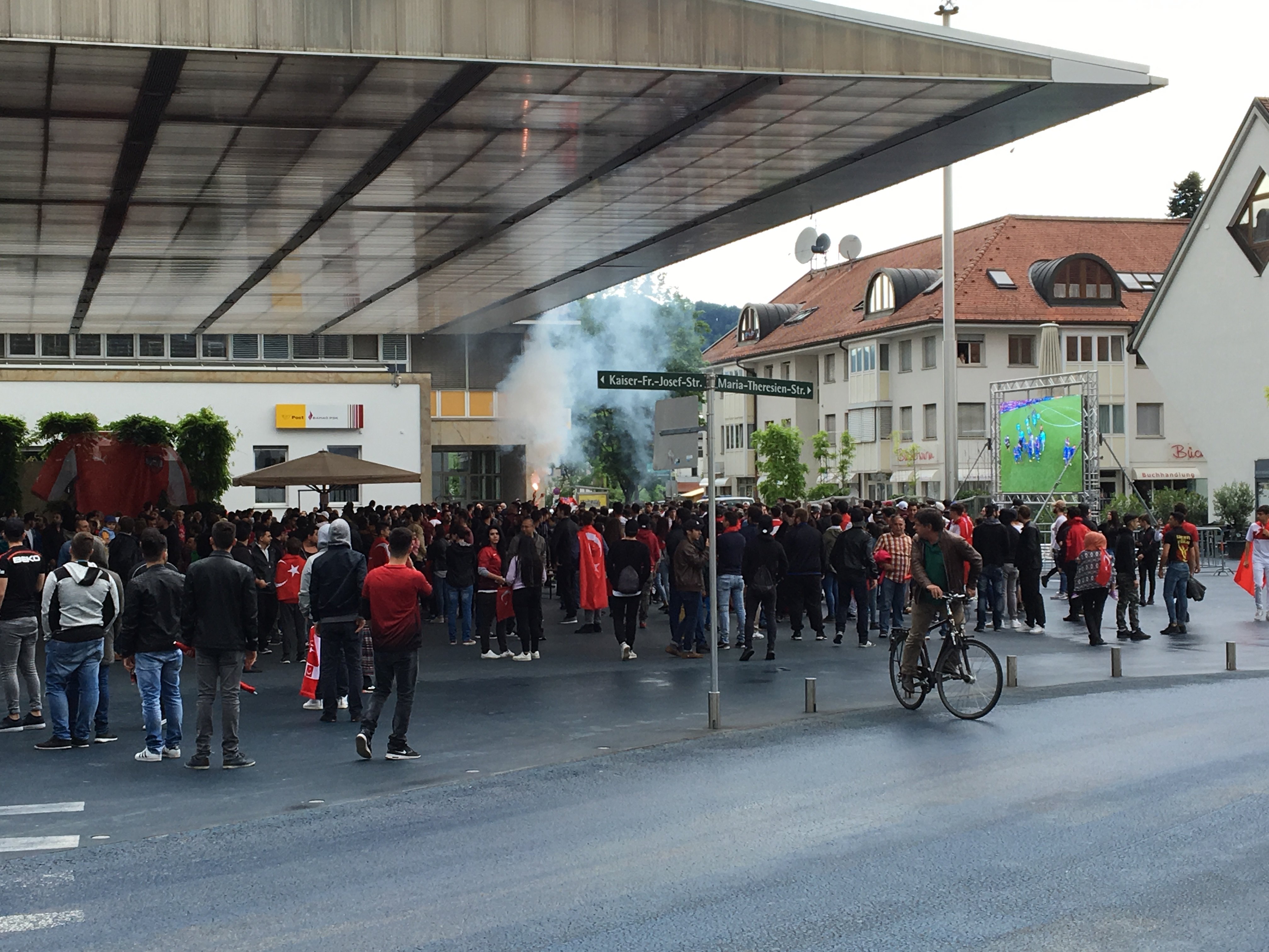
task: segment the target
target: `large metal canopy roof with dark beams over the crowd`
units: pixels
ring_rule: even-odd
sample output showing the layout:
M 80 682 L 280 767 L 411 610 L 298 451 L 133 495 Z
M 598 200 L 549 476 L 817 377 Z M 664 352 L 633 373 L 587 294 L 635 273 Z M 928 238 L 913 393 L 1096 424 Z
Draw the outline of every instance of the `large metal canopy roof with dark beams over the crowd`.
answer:
M 792 0 L 0 0 L 0 330 L 486 330 L 1161 83 Z

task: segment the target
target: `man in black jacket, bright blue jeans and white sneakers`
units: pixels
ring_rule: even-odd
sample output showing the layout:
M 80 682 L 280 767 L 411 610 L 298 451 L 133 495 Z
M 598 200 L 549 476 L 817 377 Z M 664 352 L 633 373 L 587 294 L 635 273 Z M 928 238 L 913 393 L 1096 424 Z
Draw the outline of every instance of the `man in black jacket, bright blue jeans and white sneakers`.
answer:
M 123 618 L 115 651 L 123 666 L 137 678 L 141 716 L 146 725 L 146 746 L 136 754 L 141 763 L 157 763 L 180 757 L 180 669 L 184 656 L 180 640 L 184 576 L 168 565 L 168 541 L 157 529 L 141 533 L 141 555 L 146 564 L 137 569 L 124 589 Z M 162 720 L 168 718 L 166 727 Z

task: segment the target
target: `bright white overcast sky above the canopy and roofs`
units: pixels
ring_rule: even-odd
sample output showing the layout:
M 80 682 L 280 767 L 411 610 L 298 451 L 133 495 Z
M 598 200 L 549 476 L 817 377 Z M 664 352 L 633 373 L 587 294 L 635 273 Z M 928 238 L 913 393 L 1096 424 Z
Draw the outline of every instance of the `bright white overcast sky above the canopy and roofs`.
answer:
M 830 0 L 831 1 L 831 0 Z M 937 0 L 840 4 L 937 23 Z M 961 228 L 1006 213 L 1164 217 L 1174 182 L 1192 169 L 1204 184 L 1251 99 L 1269 95 L 1264 0 L 959 0 L 952 23 L 973 33 L 1146 63 L 1169 85 L 1065 126 L 968 159 L 954 168 Z M 793 241 L 807 225 L 843 235 L 863 254 L 937 235 L 942 173 L 826 209 L 665 269 L 694 301 L 769 301 L 807 265 Z

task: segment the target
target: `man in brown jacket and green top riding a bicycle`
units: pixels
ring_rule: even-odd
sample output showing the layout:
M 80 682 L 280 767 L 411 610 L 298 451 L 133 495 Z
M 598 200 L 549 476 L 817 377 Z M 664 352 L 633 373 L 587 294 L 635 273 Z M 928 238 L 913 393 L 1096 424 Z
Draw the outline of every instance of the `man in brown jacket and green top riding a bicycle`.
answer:
M 943 621 L 939 608 L 944 594 L 973 598 L 981 572 L 982 556 L 963 538 L 944 528 L 943 517 L 937 509 L 921 509 L 916 514 L 916 538 L 912 539 L 912 586 L 916 598 L 912 602 L 912 627 L 904 642 L 898 669 L 904 691 L 914 691 L 912 678 L 916 675 L 925 635 L 935 618 Z M 952 617 L 957 625 L 964 625 L 962 599 L 952 602 Z

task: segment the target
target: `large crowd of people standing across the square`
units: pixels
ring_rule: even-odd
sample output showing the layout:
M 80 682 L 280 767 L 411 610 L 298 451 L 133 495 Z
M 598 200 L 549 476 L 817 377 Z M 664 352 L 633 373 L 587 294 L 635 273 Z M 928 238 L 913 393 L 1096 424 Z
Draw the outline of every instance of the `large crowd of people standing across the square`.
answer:
M 792 641 L 806 627 L 827 641 L 831 622 L 838 646 L 851 625 L 860 649 L 873 646 L 873 632 L 905 638 L 905 680 L 915 673 L 921 640 L 942 621 L 947 593 L 977 597 L 976 631 L 990 622 L 995 631 L 1008 625 L 1043 633 L 1041 589 L 1055 574 L 1061 581 L 1053 598 L 1067 600 L 1065 621 L 1082 623 L 1091 645 L 1105 644 L 1112 592 L 1118 637 L 1150 637 L 1140 628 L 1138 605 L 1154 603 L 1156 570 L 1169 616 L 1164 633 L 1187 632 L 1188 588 L 1199 566 L 1198 533 L 1183 506 L 1157 528 L 1148 515 L 1115 513 L 1094 527 L 1088 506 L 1061 501 L 1053 514 L 1053 570 L 1042 576 L 1041 532 L 1020 503 L 989 503 L 977 518 L 961 503 L 725 506 L 711 576 L 703 504 L 372 501 L 341 513 L 280 515 L 147 505 L 136 517 L 86 513 L 72 520 L 29 513 L 3 526 L 8 716 L 0 732 L 51 725 L 39 750 L 115 740 L 108 670 L 118 658 L 141 696 L 146 745 L 136 759 L 179 759 L 180 671 L 193 658 L 195 741 L 185 765 L 211 765 L 220 699 L 222 765 L 250 767 L 239 746 L 241 679 L 277 655 L 277 663 L 301 663 L 315 675 L 305 708 L 321 711 L 324 722 L 339 720 L 340 711 L 359 722 L 355 744 L 365 758 L 396 691 L 385 755 L 412 759 L 419 754 L 406 735 L 424 626 L 443 625 L 450 645 L 478 645 L 485 660 L 537 661 L 547 592 L 558 599 L 558 623 L 579 632 L 602 632 L 607 613 L 623 661 L 637 659 L 638 631 L 652 611 L 667 616 L 665 651 L 689 660 L 735 646 L 739 660 L 749 661 L 764 640 L 765 658 L 774 660 L 778 621 L 788 623 Z M 1269 542 L 1269 509 L 1259 515 Z M 717 640 L 707 621 L 712 600 Z M 961 602 L 953 611 L 962 611 Z

